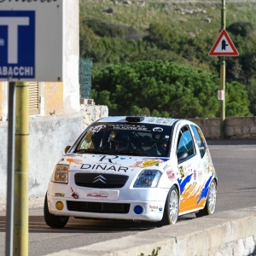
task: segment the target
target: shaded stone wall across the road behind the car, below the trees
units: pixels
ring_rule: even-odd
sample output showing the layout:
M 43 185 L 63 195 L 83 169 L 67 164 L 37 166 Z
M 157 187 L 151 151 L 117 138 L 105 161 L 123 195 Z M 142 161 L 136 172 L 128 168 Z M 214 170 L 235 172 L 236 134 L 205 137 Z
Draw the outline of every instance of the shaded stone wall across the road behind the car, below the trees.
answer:
M 207 139 L 220 137 L 220 119 L 189 119 L 201 127 Z M 226 118 L 224 137 L 227 139 L 256 139 L 256 117 Z

